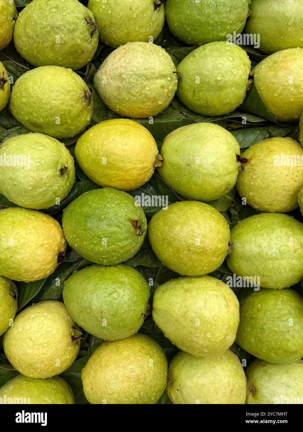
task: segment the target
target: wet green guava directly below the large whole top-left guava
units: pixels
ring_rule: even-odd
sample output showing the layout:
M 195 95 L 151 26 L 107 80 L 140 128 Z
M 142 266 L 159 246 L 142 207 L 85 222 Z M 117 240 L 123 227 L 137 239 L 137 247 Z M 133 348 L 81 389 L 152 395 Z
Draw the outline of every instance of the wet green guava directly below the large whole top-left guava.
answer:
M 59 66 L 24 73 L 10 96 L 10 112 L 17 120 L 32 132 L 54 138 L 81 132 L 92 118 L 92 108 L 92 95 L 83 79 Z

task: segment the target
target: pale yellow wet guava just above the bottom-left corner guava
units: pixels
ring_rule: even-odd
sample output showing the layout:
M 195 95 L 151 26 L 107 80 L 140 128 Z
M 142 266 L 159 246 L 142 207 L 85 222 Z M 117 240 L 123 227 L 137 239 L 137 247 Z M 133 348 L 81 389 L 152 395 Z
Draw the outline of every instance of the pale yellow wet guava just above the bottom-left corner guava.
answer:
M 18 372 L 50 378 L 76 359 L 80 331 L 61 302 L 46 300 L 21 311 L 3 339 L 4 352 Z

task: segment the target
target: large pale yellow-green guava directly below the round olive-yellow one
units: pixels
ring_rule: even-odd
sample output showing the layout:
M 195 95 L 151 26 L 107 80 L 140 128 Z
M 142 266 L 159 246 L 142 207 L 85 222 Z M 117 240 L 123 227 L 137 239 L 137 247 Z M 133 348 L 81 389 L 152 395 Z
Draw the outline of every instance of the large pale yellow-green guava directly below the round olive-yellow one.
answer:
M 186 353 L 219 356 L 236 339 L 239 302 L 232 289 L 214 277 L 180 277 L 156 289 L 153 320 Z

